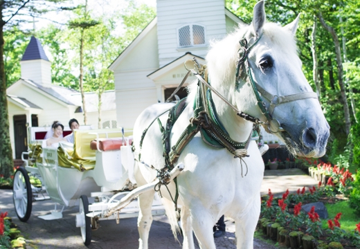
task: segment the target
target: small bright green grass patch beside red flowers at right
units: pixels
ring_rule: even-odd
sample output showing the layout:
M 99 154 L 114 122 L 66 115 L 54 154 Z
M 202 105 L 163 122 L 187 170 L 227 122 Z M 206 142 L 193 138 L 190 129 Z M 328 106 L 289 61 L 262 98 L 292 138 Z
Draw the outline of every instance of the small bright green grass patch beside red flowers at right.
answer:
M 339 201 L 334 204 L 325 204 L 329 218 L 323 220 L 323 228 L 327 228 L 327 220 L 334 219 L 337 213 L 341 212 L 341 229 L 346 232 L 353 232 L 356 228 L 356 224 L 360 222 L 360 216 L 355 214 L 354 210 L 349 207 L 349 201 Z

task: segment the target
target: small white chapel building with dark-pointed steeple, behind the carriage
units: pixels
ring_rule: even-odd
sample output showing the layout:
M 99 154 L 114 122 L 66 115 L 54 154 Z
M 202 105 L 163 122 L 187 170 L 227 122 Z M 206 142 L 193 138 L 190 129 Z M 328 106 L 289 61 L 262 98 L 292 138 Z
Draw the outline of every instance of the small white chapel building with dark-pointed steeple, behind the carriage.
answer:
M 84 124 L 82 100 L 78 91 L 51 82 L 51 62 L 39 40 L 31 37 L 20 62 L 21 78 L 6 89 L 8 118 L 13 158 L 21 158 L 27 151 L 27 127 L 44 127 L 44 134 L 53 121 L 69 126 L 71 118 Z M 85 93 L 87 120 L 98 128 L 98 95 Z M 114 91 L 102 94 L 102 127 L 116 128 Z M 43 139 L 43 138 L 37 138 Z

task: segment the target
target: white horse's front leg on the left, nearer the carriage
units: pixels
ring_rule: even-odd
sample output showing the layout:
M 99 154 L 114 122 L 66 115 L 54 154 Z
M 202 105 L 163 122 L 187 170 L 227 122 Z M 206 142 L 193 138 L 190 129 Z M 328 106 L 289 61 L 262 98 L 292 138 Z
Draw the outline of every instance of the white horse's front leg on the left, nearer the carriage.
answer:
M 215 249 L 213 226 L 215 221 L 213 216 L 205 208 L 196 207 L 191 210 L 192 228 L 199 242 L 200 248 Z

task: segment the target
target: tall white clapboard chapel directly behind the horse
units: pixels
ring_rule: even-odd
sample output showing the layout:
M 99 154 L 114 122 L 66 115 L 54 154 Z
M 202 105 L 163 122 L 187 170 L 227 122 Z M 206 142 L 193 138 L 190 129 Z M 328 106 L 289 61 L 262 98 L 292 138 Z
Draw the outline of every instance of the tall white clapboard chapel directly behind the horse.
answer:
M 118 126 L 134 127 L 141 111 L 164 102 L 187 73 L 183 63 L 196 57 L 204 64 L 210 41 L 222 39 L 240 22 L 224 0 L 157 0 L 156 17 L 109 66 Z M 192 75 L 186 84 L 193 80 Z

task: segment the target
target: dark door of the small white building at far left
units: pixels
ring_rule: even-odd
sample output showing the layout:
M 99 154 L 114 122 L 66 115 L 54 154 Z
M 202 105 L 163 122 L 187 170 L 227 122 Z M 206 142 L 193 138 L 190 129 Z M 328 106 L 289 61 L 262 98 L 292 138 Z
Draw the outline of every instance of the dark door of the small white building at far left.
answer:
M 28 132 L 26 131 L 26 115 L 14 116 L 15 158 L 20 159 L 21 153 L 28 151 Z

